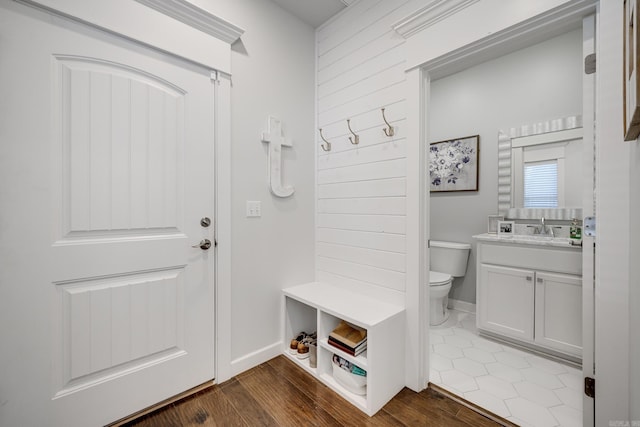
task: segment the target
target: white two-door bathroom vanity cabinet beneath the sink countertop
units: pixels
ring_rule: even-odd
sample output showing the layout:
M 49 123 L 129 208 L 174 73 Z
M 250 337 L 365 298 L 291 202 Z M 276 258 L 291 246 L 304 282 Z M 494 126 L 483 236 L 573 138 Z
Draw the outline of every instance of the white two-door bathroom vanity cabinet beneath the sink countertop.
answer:
M 581 249 L 487 235 L 476 239 L 480 333 L 579 361 Z

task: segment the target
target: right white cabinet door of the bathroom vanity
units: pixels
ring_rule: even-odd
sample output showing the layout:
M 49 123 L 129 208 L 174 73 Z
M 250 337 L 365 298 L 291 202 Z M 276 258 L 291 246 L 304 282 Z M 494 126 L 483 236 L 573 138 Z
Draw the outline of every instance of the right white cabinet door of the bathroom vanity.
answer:
M 535 341 L 545 347 L 582 356 L 582 279 L 536 273 Z

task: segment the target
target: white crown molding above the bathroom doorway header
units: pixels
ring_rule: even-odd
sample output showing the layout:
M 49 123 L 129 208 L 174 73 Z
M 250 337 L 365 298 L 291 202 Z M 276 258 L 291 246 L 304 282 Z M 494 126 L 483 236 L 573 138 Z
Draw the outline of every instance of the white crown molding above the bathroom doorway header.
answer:
M 433 0 L 392 25 L 405 39 L 471 6 L 479 0 Z

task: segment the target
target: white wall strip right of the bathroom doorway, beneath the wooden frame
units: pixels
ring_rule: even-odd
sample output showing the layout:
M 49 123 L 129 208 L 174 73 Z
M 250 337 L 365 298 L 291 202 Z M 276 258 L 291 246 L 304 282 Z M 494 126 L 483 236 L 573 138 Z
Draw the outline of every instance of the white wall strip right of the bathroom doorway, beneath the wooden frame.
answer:
M 622 0 L 600 2 L 596 164 L 596 425 L 640 420 L 640 148 L 622 128 Z

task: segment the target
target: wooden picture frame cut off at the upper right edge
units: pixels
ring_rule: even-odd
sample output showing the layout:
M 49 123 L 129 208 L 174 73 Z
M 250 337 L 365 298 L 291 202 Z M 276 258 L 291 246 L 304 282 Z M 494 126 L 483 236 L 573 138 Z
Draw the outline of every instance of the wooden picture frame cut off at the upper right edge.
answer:
M 623 120 L 624 140 L 633 141 L 640 135 L 640 40 L 638 37 L 640 0 L 624 0 L 623 46 Z

